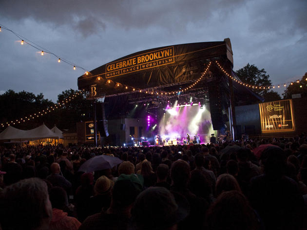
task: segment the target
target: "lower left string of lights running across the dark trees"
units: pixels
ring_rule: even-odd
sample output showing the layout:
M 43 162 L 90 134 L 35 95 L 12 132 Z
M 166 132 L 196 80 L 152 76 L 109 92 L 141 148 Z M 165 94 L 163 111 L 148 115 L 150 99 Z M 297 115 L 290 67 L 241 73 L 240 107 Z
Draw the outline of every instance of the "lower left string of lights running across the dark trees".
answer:
M 25 122 L 27 122 L 27 121 L 34 120 L 35 118 L 37 118 L 37 117 L 39 117 L 39 116 L 42 116 L 42 115 L 45 115 L 45 114 L 47 114 L 47 113 L 53 112 L 55 109 L 63 108 L 64 105 L 66 105 L 66 104 L 69 103 L 72 99 L 76 98 L 78 95 L 80 95 L 80 94 L 82 94 L 82 93 L 83 93 L 82 91 L 77 91 L 76 94 L 74 94 L 74 95 L 72 95 L 72 96 L 69 96 L 69 97 L 66 98 L 65 100 L 62 100 L 61 102 L 58 102 L 58 103 L 56 103 L 55 105 L 50 106 L 50 107 L 48 107 L 48 108 L 45 109 L 45 110 L 39 111 L 38 113 L 35 113 L 35 114 L 27 115 L 27 116 L 25 116 L 25 117 L 21 117 L 21 118 L 16 119 L 16 120 L 11 120 L 11 121 L 7 121 L 7 122 L 4 122 L 4 123 L 1 123 L 1 126 L 2 126 L 2 127 L 5 127 L 5 126 L 10 126 L 10 125 L 15 125 L 15 124 L 25 123 Z

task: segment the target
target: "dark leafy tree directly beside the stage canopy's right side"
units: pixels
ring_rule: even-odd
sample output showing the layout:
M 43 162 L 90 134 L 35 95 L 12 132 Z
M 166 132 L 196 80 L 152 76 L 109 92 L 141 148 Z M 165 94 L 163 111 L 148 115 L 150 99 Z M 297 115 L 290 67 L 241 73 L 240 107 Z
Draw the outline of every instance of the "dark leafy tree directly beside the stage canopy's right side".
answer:
M 243 68 L 237 70 L 236 75 L 246 84 L 255 86 L 270 86 L 272 84 L 269 75 L 265 69 L 258 69 L 255 65 L 249 63 Z M 265 98 L 265 101 L 279 100 L 281 97 L 278 93 L 269 89 L 252 89 L 256 94 Z

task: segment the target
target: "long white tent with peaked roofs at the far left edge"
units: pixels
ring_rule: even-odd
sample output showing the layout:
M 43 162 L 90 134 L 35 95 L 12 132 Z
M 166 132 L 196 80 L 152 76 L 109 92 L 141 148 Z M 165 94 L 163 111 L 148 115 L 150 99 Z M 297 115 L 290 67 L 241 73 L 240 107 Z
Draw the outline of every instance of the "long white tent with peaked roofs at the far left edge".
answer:
M 61 138 L 59 134 L 52 132 L 45 124 L 38 126 L 32 130 L 19 130 L 12 126 L 8 126 L 2 133 L 0 133 L 0 140 L 39 140 L 43 138 L 58 139 Z

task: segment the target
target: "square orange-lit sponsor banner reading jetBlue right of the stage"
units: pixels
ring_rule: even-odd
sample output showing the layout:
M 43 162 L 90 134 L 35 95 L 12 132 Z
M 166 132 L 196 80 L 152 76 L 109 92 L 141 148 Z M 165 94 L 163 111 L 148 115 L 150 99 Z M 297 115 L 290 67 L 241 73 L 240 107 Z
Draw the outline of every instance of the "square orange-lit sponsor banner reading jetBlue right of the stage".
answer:
M 292 100 L 280 100 L 259 104 L 261 131 L 294 130 Z

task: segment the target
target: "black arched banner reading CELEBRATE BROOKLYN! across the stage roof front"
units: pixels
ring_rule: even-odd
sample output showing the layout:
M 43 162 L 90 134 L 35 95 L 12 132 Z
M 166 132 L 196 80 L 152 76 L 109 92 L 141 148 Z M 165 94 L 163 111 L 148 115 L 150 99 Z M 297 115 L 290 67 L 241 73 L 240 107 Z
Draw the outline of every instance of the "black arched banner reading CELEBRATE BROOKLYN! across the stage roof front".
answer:
M 232 62 L 229 39 L 145 50 L 78 77 L 78 89 L 90 92 L 90 97 L 95 98 L 129 92 L 133 88 L 148 89 L 195 80 L 206 69 L 208 59 L 216 57 Z

